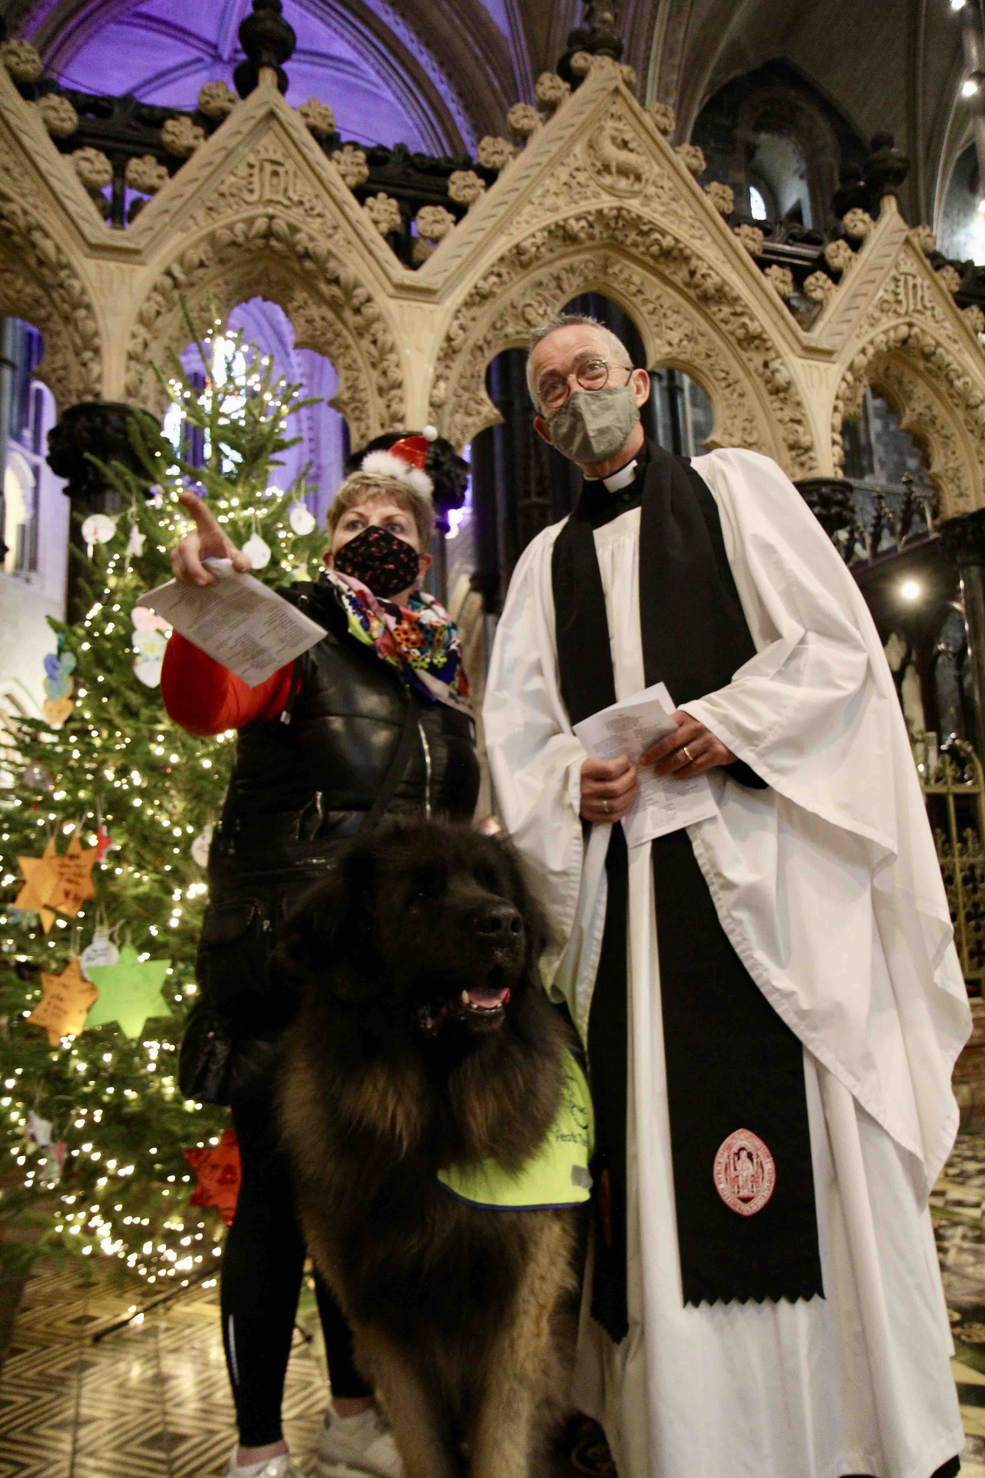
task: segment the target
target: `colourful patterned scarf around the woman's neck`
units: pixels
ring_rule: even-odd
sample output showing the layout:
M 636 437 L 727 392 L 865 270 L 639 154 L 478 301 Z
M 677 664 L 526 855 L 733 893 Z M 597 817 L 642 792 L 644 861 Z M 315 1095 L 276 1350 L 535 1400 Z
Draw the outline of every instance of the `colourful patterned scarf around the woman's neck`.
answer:
M 346 612 L 349 631 L 397 670 L 411 689 L 471 714 L 458 627 L 445 606 L 422 590 L 406 606 L 380 600 L 354 575 L 323 576 Z

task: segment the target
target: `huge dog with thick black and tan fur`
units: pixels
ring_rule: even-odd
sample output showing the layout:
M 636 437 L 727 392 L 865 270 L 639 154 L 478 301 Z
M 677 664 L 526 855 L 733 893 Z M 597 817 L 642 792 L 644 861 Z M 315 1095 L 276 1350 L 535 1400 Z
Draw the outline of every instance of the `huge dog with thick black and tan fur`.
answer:
M 566 1411 L 582 1210 L 480 1209 L 437 1179 L 517 1169 L 554 1122 L 570 1039 L 543 943 L 507 845 L 421 823 L 357 842 L 275 953 L 301 992 L 281 1111 L 307 1246 L 408 1478 L 540 1478 Z

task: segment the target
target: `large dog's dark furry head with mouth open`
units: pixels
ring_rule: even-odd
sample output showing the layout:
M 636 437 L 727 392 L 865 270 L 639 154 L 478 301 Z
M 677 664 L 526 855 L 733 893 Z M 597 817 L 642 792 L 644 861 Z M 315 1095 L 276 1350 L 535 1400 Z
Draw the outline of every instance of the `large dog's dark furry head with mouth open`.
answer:
M 275 973 L 375 1007 L 396 1035 L 478 1045 L 527 987 L 545 928 L 512 850 L 455 826 L 356 842 L 298 905 Z M 365 1012 L 363 1012 L 365 1014 Z

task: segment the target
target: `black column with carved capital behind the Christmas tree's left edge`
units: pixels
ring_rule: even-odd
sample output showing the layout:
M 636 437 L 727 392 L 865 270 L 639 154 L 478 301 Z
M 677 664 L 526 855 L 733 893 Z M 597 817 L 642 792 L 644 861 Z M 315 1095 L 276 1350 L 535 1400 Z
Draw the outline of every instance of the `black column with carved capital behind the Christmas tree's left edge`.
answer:
M 159 430 L 159 423 L 133 405 L 118 401 L 80 401 L 69 405 L 47 437 L 47 464 L 56 477 L 65 477 L 65 497 L 72 504 L 68 534 L 68 573 L 65 579 L 65 619 L 78 621 L 86 613 L 87 596 L 83 572 L 89 563 L 81 537 L 83 520 L 90 513 L 120 513 L 120 494 L 106 483 L 103 473 L 92 463 L 118 461 L 133 471 L 143 471 L 130 443 L 131 415 L 146 417 Z

